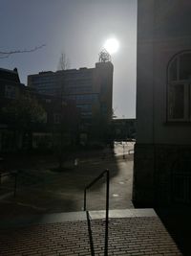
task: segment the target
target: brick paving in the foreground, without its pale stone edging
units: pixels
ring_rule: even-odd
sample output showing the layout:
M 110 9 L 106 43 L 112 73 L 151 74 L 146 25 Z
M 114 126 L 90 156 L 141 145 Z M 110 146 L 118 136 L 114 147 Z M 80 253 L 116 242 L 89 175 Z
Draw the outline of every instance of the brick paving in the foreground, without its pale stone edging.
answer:
M 104 221 L 91 220 L 95 255 L 104 255 Z M 91 255 L 87 221 L 0 230 L 2 256 Z M 111 219 L 109 255 L 181 255 L 158 217 Z

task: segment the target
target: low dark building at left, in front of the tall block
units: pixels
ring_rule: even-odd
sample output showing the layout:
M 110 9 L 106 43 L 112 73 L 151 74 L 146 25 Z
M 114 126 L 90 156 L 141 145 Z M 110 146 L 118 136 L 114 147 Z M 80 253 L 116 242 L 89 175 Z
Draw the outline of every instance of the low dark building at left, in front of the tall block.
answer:
M 53 150 L 60 133 L 72 145 L 78 128 L 74 101 L 66 104 L 61 97 L 39 94 L 20 82 L 17 69 L 0 69 L 0 152 Z

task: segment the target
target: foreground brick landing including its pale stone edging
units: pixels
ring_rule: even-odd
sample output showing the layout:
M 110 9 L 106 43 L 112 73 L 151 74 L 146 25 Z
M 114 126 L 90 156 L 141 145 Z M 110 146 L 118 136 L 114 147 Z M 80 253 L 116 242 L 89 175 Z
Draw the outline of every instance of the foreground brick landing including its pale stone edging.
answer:
M 90 211 L 95 255 L 104 255 L 104 211 Z M 10 222 L 10 223 L 9 223 Z M 0 255 L 88 256 L 86 212 L 0 222 Z M 182 255 L 153 209 L 110 210 L 108 255 Z

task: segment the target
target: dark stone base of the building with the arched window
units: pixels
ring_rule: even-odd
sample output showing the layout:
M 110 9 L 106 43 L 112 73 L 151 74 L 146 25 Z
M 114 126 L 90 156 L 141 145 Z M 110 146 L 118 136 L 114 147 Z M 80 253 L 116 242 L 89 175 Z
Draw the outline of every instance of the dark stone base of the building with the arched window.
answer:
M 134 203 L 191 205 L 190 155 L 191 146 L 136 144 Z

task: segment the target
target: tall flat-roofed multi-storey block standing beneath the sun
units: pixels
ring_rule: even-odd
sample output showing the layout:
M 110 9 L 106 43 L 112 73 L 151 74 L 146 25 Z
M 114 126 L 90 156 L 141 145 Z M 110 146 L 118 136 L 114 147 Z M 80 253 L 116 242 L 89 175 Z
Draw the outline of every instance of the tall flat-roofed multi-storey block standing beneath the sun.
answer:
M 113 70 L 111 61 L 102 61 L 95 68 L 30 75 L 28 85 L 40 94 L 74 101 L 80 109 L 82 133 L 95 137 L 96 126 L 112 120 Z

